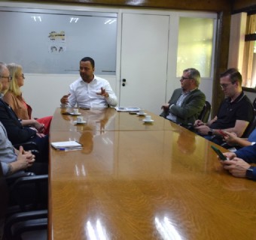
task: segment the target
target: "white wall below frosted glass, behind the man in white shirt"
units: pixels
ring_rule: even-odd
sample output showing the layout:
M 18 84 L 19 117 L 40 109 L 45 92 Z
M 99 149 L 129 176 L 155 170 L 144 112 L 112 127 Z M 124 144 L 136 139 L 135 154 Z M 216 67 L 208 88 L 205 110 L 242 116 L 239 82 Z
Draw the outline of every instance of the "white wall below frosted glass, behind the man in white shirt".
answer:
M 79 62 L 78 62 L 79 65 Z M 32 109 L 33 117 L 41 118 L 53 115 L 56 107 L 60 106 L 60 98 L 69 92 L 69 84 L 78 79 L 79 74 L 26 74 L 22 88 L 23 98 Z M 116 77 L 99 76 L 108 80 L 114 92 Z

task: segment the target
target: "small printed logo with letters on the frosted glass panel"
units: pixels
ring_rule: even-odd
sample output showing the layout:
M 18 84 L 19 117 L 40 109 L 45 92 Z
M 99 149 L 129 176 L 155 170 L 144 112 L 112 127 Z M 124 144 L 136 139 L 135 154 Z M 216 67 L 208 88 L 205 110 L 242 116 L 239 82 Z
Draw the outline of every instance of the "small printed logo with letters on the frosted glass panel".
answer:
M 58 54 L 66 52 L 66 35 L 65 31 L 50 31 L 49 33 L 50 45 L 48 52 Z

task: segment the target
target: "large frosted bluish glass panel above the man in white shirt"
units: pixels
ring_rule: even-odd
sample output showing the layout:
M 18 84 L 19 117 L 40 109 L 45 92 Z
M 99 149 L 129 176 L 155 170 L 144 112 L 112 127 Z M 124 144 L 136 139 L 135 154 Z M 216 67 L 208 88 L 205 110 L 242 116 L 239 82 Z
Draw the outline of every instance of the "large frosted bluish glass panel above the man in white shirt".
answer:
M 90 56 L 96 74 L 115 74 L 116 13 L 1 7 L 0 29 L 0 62 L 25 73 L 76 74 Z

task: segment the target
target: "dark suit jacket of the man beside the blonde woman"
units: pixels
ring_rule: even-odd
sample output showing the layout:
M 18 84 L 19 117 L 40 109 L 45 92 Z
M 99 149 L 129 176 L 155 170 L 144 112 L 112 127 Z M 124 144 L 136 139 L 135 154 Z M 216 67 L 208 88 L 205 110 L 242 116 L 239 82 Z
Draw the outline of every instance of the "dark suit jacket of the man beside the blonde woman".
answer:
M 2 99 L 0 99 L 0 121 L 5 126 L 8 139 L 12 144 L 26 142 L 36 136 L 36 131 L 29 127 L 23 127 L 17 115 Z

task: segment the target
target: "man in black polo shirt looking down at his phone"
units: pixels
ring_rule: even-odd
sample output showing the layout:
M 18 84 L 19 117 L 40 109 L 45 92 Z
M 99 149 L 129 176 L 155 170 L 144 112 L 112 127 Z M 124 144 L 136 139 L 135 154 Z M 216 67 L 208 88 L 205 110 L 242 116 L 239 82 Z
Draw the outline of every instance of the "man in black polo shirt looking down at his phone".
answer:
M 201 136 L 221 145 L 224 141 L 219 129 L 234 132 L 241 137 L 249 122 L 254 118 L 251 101 L 242 92 L 242 75 L 236 68 L 221 74 L 221 89 L 226 98 L 218 109 L 218 114 L 207 124 L 197 120 L 194 127 Z

